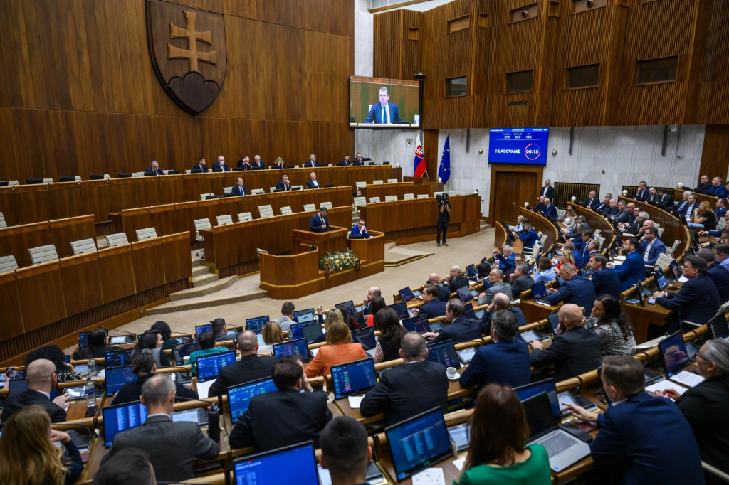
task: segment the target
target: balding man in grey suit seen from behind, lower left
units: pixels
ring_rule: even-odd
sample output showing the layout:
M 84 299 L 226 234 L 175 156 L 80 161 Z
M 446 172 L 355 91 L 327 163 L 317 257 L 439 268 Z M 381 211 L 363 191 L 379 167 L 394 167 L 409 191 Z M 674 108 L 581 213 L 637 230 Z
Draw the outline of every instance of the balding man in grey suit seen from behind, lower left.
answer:
M 194 422 L 173 422 L 170 419 L 175 402 L 175 383 L 168 376 L 157 374 L 141 387 L 141 403 L 147 408 L 144 424 L 122 431 L 106 453 L 102 465 L 114 453 L 125 448 L 144 449 L 155 468 L 157 481 L 179 482 L 194 478 L 195 458 L 212 460 L 218 456 L 218 445 Z

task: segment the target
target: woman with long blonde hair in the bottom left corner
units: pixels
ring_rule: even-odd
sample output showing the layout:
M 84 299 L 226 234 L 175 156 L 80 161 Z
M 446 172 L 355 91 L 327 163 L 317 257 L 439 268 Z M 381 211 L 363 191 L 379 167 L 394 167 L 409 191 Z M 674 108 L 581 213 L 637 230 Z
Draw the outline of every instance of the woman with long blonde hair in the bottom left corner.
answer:
M 53 444 L 58 442 L 63 447 Z M 5 423 L 0 437 L 0 484 L 73 484 L 83 470 L 81 454 L 69 433 L 53 430 L 42 406 L 21 409 Z

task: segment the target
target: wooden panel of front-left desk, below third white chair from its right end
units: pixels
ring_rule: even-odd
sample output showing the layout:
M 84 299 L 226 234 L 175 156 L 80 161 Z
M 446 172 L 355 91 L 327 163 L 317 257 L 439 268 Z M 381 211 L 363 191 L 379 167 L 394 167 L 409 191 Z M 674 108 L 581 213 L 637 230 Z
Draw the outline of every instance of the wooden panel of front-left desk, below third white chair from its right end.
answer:
M 104 304 L 104 297 L 101 294 L 101 274 L 98 270 L 98 253 L 62 258 L 60 264 L 63 287 L 73 288 L 73 291 L 63 293 L 66 313 L 69 316 Z

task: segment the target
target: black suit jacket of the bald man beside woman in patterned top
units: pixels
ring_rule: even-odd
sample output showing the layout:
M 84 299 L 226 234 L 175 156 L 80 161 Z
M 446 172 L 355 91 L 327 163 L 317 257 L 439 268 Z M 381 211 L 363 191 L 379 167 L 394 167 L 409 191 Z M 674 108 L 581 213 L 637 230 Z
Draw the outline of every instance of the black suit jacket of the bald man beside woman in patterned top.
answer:
M 559 382 L 598 368 L 600 352 L 598 334 L 585 327 L 575 327 L 555 336 L 545 350 L 532 350 L 529 359 L 534 367 L 554 364 L 554 380 Z

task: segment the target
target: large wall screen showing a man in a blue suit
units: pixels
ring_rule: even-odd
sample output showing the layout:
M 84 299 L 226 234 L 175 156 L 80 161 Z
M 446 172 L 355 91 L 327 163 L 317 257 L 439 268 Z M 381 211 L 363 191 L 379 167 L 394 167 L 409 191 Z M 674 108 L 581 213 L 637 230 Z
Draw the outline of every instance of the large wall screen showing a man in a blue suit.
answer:
M 349 76 L 349 125 L 356 128 L 420 127 L 420 83 Z

